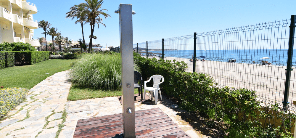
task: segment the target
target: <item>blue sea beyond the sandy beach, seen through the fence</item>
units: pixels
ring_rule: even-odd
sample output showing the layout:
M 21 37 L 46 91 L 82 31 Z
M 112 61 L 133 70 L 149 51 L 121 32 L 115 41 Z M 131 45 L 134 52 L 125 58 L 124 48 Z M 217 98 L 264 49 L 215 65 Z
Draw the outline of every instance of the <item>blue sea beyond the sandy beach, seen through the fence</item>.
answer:
M 159 56 L 162 51 L 148 51 Z M 292 66 L 296 66 L 296 49 L 292 56 Z M 293 54 L 292 53 L 292 54 Z M 145 53 L 142 53 L 146 55 Z M 179 57 L 192 59 L 193 50 L 164 50 L 164 57 Z M 161 56 L 161 55 L 160 55 Z M 196 50 L 196 58 L 202 60 L 228 62 L 235 59 L 238 63 L 252 63 L 261 64 L 261 61 L 268 61 L 272 65 L 287 66 L 288 49 L 259 49 L 259 50 Z M 263 58 L 263 59 L 262 59 Z

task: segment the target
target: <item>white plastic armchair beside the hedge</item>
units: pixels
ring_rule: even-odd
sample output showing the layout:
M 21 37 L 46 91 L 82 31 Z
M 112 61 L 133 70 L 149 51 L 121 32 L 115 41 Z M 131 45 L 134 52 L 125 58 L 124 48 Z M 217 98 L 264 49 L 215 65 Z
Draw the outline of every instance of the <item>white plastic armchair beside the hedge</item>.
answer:
M 153 87 L 147 87 L 146 84 L 147 84 L 147 82 L 149 82 L 151 80 L 151 78 L 153 78 Z M 161 79 L 162 79 L 162 81 L 160 82 Z M 154 97 L 155 97 L 155 104 L 157 104 L 158 91 L 160 94 L 160 100 L 163 100 L 163 98 L 161 97 L 160 89 L 159 89 L 159 84 L 163 83 L 163 81 L 164 81 L 164 78 L 161 75 L 153 75 L 149 78 L 148 81 L 144 81 L 144 98 L 143 98 L 144 100 L 143 100 L 143 102 L 145 101 L 146 91 L 153 92 Z M 150 95 L 152 98 L 152 93 Z

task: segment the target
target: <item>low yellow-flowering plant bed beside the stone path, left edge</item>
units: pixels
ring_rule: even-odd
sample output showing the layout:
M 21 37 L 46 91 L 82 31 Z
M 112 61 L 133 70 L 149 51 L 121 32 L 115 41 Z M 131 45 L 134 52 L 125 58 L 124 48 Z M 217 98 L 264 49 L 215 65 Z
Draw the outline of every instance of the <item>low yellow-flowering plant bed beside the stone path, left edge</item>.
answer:
M 10 110 L 20 105 L 27 97 L 27 88 L 7 88 L 0 89 L 0 120 L 9 113 Z

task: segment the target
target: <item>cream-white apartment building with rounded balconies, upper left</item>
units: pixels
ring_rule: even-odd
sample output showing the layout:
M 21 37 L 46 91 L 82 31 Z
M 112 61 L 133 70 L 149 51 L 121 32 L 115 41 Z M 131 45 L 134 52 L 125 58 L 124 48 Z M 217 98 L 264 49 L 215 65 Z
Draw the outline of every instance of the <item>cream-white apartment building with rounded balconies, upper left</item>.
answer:
M 27 0 L 0 0 L 0 43 L 23 42 L 34 47 L 39 41 L 32 39 L 38 22 L 33 20 L 37 13 L 35 4 Z

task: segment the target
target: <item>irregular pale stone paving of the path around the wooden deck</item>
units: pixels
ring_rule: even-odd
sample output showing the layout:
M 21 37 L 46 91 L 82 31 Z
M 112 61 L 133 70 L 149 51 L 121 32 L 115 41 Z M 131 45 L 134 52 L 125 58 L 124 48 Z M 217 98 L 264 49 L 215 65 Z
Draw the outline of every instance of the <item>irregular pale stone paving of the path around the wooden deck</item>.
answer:
M 70 82 L 67 70 L 55 73 L 30 89 L 27 100 L 12 110 L 9 118 L 0 123 L 0 138 L 72 138 L 80 119 L 122 113 L 118 97 L 67 101 Z M 166 105 L 163 104 L 165 102 Z M 178 108 L 163 96 L 157 105 L 136 102 L 135 110 L 157 108 L 166 113 L 192 138 L 206 138 L 182 121 Z M 65 118 L 65 119 L 63 119 Z M 61 128 L 60 133 L 57 133 Z

